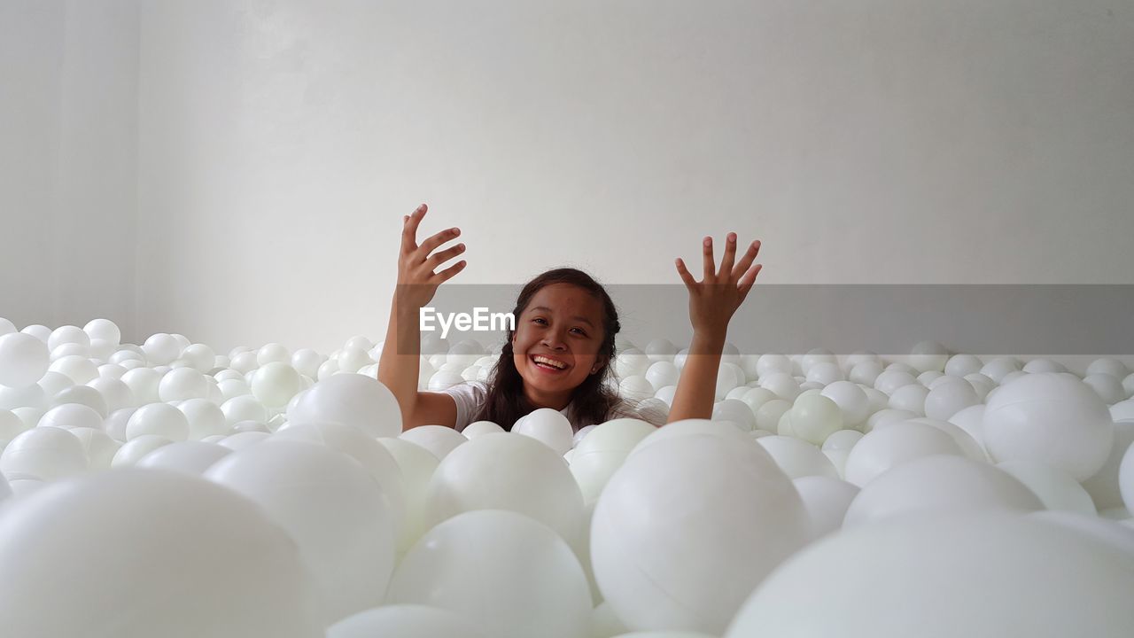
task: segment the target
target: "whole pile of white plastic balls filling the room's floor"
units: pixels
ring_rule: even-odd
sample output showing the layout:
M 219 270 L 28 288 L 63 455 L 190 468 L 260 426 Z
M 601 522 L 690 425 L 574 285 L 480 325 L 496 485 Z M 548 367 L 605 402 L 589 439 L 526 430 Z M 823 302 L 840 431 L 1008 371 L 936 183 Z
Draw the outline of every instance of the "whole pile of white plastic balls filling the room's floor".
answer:
M 727 346 L 711 419 L 401 433 L 365 337 L 119 342 L 0 319 L 5 636 L 1134 636 L 1116 359 Z M 426 342 L 423 389 L 499 353 Z M 618 350 L 668 408 L 687 352 Z

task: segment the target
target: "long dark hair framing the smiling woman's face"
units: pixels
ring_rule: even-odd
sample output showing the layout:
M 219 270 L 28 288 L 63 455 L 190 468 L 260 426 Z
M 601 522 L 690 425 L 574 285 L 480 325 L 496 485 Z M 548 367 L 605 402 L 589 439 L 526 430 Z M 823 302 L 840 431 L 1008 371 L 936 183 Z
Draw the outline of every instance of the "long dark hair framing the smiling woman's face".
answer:
M 595 373 L 587 375 L 586 380 L 572 393 L 573 415 L 584 425 L 602 423 L 607 420 L 611 409 L 621 401 L 618 393 L 607 385 L 607 379 L 613 377 L 611 364 L 615 361 L 615 335 L 621 329 L 621 325 L 618 324 L 618 311 L 606 288 L 593 277 L 575 268 L 556 268 L 524 285 L 516 299 L 516 308 L 511 311 L 513 317 L 518 319 L 535 293 L 543 286 L 551 284 L 578 286 L 602 301 L 603 336 L 602 345 L 599 347 L 599 356 L 606 362 Z M 535 410 L 535 406 L 524 396 L 524 378 L 519 375 L 516 362 L 513 360 L 511 338 L 514 333 L 514 330 L 508 330 L 500 358 L 497 359 L 489 373 L 485 401 L 469 422 L 492 421 L 510 431 L 517 419 Z

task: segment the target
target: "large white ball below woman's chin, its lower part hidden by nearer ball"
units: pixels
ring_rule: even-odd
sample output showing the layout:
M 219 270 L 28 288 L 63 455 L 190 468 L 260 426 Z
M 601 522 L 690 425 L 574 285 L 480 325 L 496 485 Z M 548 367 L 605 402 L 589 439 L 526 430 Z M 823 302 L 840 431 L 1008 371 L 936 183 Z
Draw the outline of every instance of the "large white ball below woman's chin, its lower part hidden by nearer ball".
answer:
M 531 517 L 572 546 L 583 532 L 583 495 L 561 455 L 515 433 L 484 435 L 450 452 L 433 472 L 425 502 L 431 524 L 494 509 Z

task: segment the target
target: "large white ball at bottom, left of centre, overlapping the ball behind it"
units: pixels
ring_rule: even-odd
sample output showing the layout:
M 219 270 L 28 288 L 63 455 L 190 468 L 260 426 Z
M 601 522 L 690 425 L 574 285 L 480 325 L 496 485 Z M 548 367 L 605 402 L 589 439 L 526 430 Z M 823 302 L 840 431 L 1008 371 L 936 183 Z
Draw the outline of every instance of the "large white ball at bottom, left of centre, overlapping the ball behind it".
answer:
M 586 576 L 567 544 L 500 510 L 465 512 L 431 529 L 398 565 L 387 603 L 446 608 L 500 638 L 584 638 L 591 616 Z

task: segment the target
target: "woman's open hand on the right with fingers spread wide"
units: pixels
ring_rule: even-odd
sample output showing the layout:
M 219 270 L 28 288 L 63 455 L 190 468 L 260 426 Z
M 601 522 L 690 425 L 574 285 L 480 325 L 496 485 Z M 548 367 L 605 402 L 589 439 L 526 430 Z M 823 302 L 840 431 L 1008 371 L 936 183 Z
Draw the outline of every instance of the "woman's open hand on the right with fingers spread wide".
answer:
M 717 270 L 712 257 L 712 237 L 705 237 L 703 246 L 704 278 L 701 282 L 695 282 L 682 258 L 677 258 L 676 261 L 677 272 L 689 291 L 689 321 L 693 324 L 694 334 L 722 339 L 728 331 L 728 322 L 733 319 L 733 313 L 744 303 L 744 299 L 756 280 L 756 275 L 763 267 L 761 263 L 752 266 L 756 253 L 760 252 L 760 240 L 752 242 L 739 263 L 734 266 L 736 233 L 729 233 L 720 270 Z

